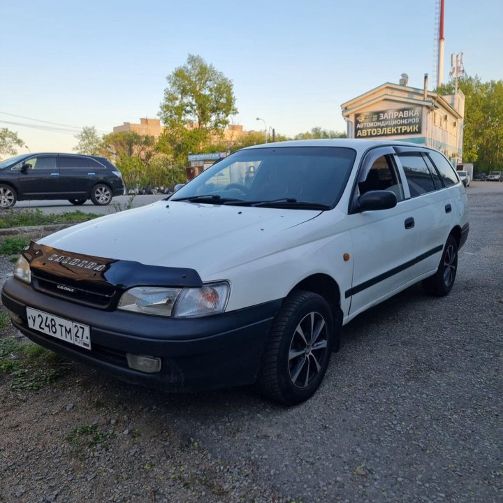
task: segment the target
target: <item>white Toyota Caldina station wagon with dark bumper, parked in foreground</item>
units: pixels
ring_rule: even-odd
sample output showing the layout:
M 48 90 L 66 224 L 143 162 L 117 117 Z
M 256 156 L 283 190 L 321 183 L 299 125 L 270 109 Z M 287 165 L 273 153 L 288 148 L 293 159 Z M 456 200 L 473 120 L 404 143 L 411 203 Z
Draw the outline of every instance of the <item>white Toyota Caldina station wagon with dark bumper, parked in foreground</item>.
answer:
M 257 383 L 297 404 L 354 316 L 416 282 L 451 291 L 467 219 L 465 188 L 436 150 L 258 145 L 168 200 L 32 242 L 2 300 L 34 342 L 131 383 Z

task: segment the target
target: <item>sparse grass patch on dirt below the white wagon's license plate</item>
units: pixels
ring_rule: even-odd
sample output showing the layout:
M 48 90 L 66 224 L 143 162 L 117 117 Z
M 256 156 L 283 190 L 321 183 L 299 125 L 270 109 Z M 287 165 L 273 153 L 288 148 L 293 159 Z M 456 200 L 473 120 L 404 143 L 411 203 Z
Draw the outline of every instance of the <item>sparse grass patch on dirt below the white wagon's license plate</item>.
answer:
M 59 355 L 33 342 L 0 339 L 0 372 L 12 377 L 10 388 L 14 391 L 37 391 L 52 383 L 66 373 L 60 362 Z

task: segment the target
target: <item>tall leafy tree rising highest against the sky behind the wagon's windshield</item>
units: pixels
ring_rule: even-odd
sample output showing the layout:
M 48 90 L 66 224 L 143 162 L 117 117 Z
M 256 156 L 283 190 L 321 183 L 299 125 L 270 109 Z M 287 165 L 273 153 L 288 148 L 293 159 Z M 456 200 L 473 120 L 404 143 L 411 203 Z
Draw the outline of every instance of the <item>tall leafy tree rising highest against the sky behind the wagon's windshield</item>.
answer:
M 233 84 L 213 65 L 189 54 L 184 66 L 166 77 L 159 117 L 166 129 L 159 150 L 181 162 L 190 152 L 203 149 L 210 138 L 223 133 L 235 108 Z

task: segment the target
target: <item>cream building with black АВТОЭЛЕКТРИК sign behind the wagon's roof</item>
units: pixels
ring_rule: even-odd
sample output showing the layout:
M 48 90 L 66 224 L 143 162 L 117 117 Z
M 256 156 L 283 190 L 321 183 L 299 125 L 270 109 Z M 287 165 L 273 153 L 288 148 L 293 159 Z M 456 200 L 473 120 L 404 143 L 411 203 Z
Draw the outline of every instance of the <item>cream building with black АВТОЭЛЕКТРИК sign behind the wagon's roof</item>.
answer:
M 462 160 L 462 127 L 465 95 L 441 96 L 400 84 L 380 85 L 341 105 L 348 138 L 386 138 L 435 147 L 444 152 L 453 166 Z

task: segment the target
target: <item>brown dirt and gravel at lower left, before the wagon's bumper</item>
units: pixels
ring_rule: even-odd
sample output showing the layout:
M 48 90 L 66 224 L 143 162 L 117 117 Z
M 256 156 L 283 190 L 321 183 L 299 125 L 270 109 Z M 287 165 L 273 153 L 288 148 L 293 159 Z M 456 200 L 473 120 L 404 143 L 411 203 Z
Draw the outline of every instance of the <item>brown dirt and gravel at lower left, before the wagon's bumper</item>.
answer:
M 1 257 L 0 287 L 12 269 Z M 10 324 L 0 337 L 27 342 Z M 231 465 L 180 433 L 168 420 L 176 398 L 69 360 L 54 367 L 38 391 L 0 370 L 0 503 L 288 501 L 253 462 Z

